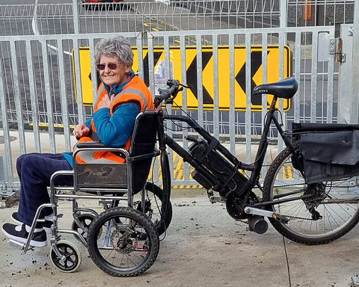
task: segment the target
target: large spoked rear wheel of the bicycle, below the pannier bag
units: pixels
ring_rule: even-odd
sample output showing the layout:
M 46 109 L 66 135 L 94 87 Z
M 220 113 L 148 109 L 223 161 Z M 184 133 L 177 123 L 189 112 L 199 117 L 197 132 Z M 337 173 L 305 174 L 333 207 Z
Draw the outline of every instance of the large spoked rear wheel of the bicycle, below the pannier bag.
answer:
M 298 147 L 296 144 L 296 152 Z M 272 226 L 288 239 L 305 244 L 324 244 L 342 237 L 359 221 L 359 178 L 307 185 L 293 167 L 292 155 L 286 148 L 272 162 L 264 180 L 264 201 L 313 196 L 269 206 L 268 210 L 289 219 L 284 224 L 269 218 Z

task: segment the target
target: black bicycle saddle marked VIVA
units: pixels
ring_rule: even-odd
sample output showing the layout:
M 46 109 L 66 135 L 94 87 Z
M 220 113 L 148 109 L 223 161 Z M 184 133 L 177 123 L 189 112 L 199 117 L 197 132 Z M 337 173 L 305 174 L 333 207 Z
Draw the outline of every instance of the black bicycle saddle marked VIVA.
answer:
M 258 94 L 271 94 L 278 98 L 289 99 L 294 96 L 298 88 L 298 83 L 295 78 L 289 77 L 283 80 L 276 81 L 275 83 L 263 84 L 254 87 L 253 95 Z

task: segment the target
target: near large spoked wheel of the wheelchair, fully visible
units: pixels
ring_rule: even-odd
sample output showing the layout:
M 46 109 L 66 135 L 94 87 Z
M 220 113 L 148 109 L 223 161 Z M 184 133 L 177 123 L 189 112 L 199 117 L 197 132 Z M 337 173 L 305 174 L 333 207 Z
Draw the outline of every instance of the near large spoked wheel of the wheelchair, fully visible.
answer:
M 110 208 L 99 214 L 87 238 L 92 261 L 112 276 L 130 277 L 145 272 L 159 251 L 158 234 L 151 220 L 129 207 Z

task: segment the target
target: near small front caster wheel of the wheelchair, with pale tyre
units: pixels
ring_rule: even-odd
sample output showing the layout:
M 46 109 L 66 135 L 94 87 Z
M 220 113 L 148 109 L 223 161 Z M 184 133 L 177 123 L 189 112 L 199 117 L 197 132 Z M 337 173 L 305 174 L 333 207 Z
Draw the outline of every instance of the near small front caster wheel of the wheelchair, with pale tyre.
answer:
M 59 240 L 56 247 L 62 256 L 58 257 L 51 247 L 50 260 L 52 264 L 61 272 L 75 272 L 81 264 L 81 253 L 77 247 L 67 240 Z

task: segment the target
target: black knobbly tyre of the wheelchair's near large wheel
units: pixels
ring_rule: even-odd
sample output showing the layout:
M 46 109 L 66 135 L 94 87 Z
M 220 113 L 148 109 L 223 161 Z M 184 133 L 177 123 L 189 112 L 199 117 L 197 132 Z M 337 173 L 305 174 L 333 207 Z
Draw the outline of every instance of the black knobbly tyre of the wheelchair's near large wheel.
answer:
M 144 259 L 138 265 L 135 265 L 134 267 L 131 267 L 131 268 L 122 268 L 121 266 L 115 266 L 115 265 L 113 265 L 113 263 L 108 262 L 102 256 L 102 254 L 98 248 L 98 243 L 97 243 L 98 232 L 102 231 L 102 230 L 108 230 L 107 229 L 108 227 L 106 227 L 104 224 L 106 224 L 109 220 L 110 220 L 110 222 L 113 222 L 111 220 L 114 220 L 115 223 L 118 222 L 118 223 L 120 223 L 119 225 L 122 225 L 125 221 L 121 220 L 119 218 L 130 219 L 132 224 L 133 224 L 133 222 L 138 223 L 139 226 L 141 226 L 142 229 L 144 230 L 144 232 L 142 232 L 142 233 L 145 233 L 145 235 L 146 235 L 146 239 L 144 239 L 144 238 L 141 239 L 141 240 L 146 240 L 145 242 L 146 242 L 146 244 L 148 244 L 148 245 L 146 245 L 147 249 L 146 249 L 145 256 L 142 255 L 142 257 L 144 257 Z M 122 222 L 122 224 L 121 224 L 121 222 Z M 123 225 L 125 225 L 125 224 L 123 224 Z M 110 229 L 110 231 L 111 231 L 111 229 Z M 116 232 L 116 231 L 117 231 L 116 229 L 114 231 L 112 231 L 110 237 L 112 237 L 113 232 Z M 130 236 L 130 234 L 132 234 L 132 232 L 128 233 L 128 231 L 126 230 L 126 234 L 127 234 L 127 236 Z M 133 232 L 133 234 L 136 234 L 136 233 Z M 130 239 L 133 239 L 133 237 L 131 237 Z M 122 237 L 121 237 L 121 240 L 122 240 Z M 123 241 L 121 241 L 121 240 L 116 241 L 117 248 L 119 248 L 120 242 L 129 242 L 128 239 L 126 239 L 126 238 Z M 90 258 L 97 265 L 97 267 L 99 269 L 101 269 L 102 271 L 106 272 L 107 274 L 110 274 L 110 275 L 116 276 L 116 277 L 132 277 L 132 276 L 137 276 L 139 274 L 144 273 L 146 270 L 148 270 L 152 266 L 152 264 L 154 263 L 154 261 L 157 258 L 158 251 L 159 251 L 159 237 L 158 237 L 157 231 L 154 228 L 151 220 L 143 213 L 141 213 L 135 209 L 129 208 L 129 207 L 110 208 L 110 209 L 104 211 L 103 213 L 99 214 L 93 220 L 93 222 L 90 226 L 87 243 L 88 243 L 87 249 L 88 249 Z M 136 245 L 136 248 L 137 248 L 137 245 Z M 112 262 L 114 262 L 113 258 L 115 256 L 116 252 L 119 253 L 118 251 L 115 251 L 114 249 L 111 249 L 110 252 L 113 252 L 113 251 L 114 251 L 114 253 L 111 253 L 111 257 L 110 257 L 110 259 L 112 259 L 111 260 Z M 119 256 L 124 257 L 125 254 L 121 253 L 121 255 L 119 255 Z M 134 255 L 132 258 L 135 258 L 135 256 L 136 255 Z

